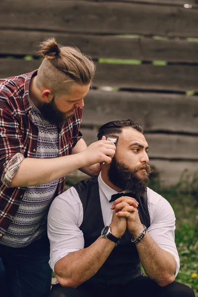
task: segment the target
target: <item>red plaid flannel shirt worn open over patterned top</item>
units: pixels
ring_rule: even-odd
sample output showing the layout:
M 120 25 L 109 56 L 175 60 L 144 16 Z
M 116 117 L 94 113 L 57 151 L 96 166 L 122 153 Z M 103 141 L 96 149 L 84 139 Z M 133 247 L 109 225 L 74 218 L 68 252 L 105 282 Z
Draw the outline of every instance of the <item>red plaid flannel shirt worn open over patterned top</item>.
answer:
M 32 105 L 29 84 L 37 70 L 16 77 L 0 79 L 0 238 L 8 229 L 26 188 L 9 188 L 20 162 L 34 158 L 37 151 L 38 129 L 31 121 Z M 82 108 L 78 107 L 71 119 L 59 132 L 59 156 L 72 153 L 72 148 L 82 137 L 80 123 Z M 14 164 L 18 163 L 18 166 Z M 16 169 L 17 168 L 17 169 Z M 64 187 L 60 178 L 57 195 Z

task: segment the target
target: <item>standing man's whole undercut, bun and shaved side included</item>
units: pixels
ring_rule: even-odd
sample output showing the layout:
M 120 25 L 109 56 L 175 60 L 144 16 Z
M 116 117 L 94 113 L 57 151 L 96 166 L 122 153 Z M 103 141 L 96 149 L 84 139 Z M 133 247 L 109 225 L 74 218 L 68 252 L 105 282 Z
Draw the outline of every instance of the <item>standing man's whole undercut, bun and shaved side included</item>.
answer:
M 38 53 L 44 57 L 38 69 L 40 85 L 59 93 L 65 83 L 92 83 L 96 66 L 91 57 L 76 47 L 59 45 L 54 38 L 42 42 Z

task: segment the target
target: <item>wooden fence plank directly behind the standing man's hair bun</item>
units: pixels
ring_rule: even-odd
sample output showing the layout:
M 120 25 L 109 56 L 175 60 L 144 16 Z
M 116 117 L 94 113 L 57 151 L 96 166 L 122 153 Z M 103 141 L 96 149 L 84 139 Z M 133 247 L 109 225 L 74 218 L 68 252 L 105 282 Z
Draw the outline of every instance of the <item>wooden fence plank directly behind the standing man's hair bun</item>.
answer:
M 56 32 L 0 30 L 0 54 L 36 55 L 38 45 L 53 36 L 62 45 L 76 46 L 93 58 L 165 60 L 169 62 L 198 62 L 198 42 L 124 38 Z

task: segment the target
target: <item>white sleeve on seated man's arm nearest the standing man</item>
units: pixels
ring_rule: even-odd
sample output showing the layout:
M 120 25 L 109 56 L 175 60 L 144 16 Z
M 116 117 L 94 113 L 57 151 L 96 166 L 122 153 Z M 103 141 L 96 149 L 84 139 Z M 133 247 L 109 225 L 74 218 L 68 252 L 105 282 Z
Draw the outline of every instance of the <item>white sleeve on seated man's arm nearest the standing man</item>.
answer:
M 84 237 L 80 230 L 83 206 L 77 191 L 72 187 L 56 197 L 49 208 L 48 237 L 50 242 L 49 265 L 68 253 L 84 248 Z

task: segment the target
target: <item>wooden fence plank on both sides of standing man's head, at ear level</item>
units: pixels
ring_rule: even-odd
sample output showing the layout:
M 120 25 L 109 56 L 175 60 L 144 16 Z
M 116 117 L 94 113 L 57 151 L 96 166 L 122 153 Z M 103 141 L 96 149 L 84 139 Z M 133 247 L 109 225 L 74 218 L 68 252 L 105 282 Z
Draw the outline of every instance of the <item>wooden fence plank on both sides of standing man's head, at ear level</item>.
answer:
M 40 60 L 0 59 L 0 78 L 19 75 L 39 67 Z M 94 87 L 198 91 L 198 66 L 151 64 L 97 64 Z

